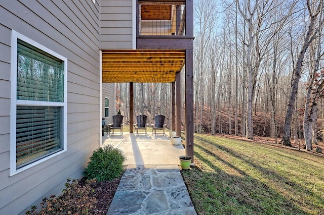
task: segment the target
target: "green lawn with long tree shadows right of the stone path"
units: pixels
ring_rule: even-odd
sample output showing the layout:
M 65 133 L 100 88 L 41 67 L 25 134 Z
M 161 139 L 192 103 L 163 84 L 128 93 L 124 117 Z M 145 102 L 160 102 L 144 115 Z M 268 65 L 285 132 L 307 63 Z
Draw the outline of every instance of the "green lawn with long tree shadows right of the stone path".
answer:
M 194 136 L 182 171 L 198 214 L 324 214 L 324 158 L 253 142 Z

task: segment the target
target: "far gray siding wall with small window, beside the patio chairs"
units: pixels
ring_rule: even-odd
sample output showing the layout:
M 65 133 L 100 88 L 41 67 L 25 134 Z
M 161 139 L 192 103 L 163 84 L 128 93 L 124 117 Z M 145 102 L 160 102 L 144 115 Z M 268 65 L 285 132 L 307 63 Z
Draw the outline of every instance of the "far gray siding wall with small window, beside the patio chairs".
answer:
M 109 117 L 105 118 L 105 98 L 109 98 Z M 107 124 L 112 123 L 112 116 L 115 113 L 115 84 L 102 83 L 102 118 L 105 118 Z

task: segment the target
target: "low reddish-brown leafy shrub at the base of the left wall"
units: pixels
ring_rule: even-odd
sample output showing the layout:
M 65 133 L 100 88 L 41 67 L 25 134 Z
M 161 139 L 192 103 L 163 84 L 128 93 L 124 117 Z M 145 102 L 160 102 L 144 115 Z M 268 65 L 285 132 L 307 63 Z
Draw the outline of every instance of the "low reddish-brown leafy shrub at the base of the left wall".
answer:
M 88 180 L 85 186 L 78 184 L 77 180 L 67 179 L 63 194 L 56 197 L 44 198 L 40 211 L 36 211 L 36 206 L 31 206 L 30 211 L 26 214 L 43 215 L 43 214 L 88 214 L 89 210 L 95 207 L 97 200 L 95 197 L 89 197 L 94 190 L 90 187 L 96 180 Z

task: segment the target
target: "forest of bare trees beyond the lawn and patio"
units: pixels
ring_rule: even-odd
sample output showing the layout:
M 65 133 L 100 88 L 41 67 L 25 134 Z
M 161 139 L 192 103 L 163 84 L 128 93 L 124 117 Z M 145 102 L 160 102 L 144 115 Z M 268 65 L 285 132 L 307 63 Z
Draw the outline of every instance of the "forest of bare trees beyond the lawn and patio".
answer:
M 311 150 L 324 123 L 323 9 L 323 0 L 195 0 L 194 131 L 302 138 Z M 129 84 L 116 84 L 116 101 L 128 121 Z M 138 114 L 166 115 L 170 127 L 171 83 L 134 83 Z

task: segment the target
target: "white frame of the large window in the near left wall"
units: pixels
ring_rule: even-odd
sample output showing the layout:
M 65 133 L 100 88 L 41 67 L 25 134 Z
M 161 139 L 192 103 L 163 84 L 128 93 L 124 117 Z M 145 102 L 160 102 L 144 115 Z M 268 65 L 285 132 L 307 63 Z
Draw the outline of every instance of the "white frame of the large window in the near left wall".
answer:
M 30 45 L 33 45 L 52 56 L 64 61 L 64 101 L 63 102 L 50 102 L 50 101 L 27 101 L 27 100 L 18 100 L 17 99 L 17 40 L 23 40 Z M 31 167 L 34 167 L 38 164 L 45 162 L 48 159 L 51 159 L 67 149 L 67 59 L 53 50 L 33 41 L 32 39 L 12 30 L 11 34 L 11 126 L 10 126 L 10 176 L 13 176 L 17 173 L 20 173 L 24 170 L 27 170 Z M 63 122 L 62 122 L 62 150 L 50 154 L 42 159 L 36 160 L 35 162 L 28 164 L 18 170 L 16 170 L 16 119 L 17 119 L 17 105 L 35 105 L 35 106 L 60 106 L 63 107 Z

